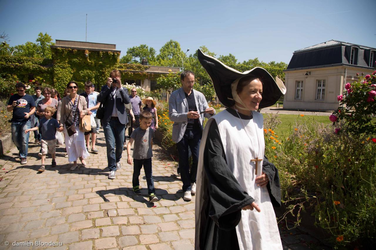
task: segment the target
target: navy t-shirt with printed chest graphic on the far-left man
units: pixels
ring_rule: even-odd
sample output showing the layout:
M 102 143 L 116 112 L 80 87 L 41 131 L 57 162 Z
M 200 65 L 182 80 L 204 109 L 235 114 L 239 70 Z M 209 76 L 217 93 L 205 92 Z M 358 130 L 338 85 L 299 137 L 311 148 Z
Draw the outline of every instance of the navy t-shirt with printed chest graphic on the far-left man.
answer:
M 12 122 L 27 122 L 30 120 L 29 118 L 25 118 L 25 112 L 29 113 L 30 108 L 35 107 L 35 102 L 34 99 L 32 98 L 31 95 L 24 95 L 20 96 L 18 94 L 12 95 L 11 98 L 9 98 L 8 105 L 12 105 L 13 101 L 19 101 L 20 104 L 16 105 L 13 108 L 13 117 L 12 117 Z

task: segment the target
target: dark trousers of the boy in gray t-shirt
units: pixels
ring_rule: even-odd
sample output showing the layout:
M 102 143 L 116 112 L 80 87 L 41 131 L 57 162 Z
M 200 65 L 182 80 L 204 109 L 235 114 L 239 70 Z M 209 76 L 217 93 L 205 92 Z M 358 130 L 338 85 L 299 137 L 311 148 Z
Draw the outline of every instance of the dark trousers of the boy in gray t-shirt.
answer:
M 154 179 L 153 179 L 153 172 L 152 172 L 152 158 L 149 159 L 133 159 L 133 178 L 132 178 L 132 185 L 133 187 L 139 186 L 138 177 L 140 176 L 140 171 L 142 166 L 144 165 L 146 183 L 147 183 L 147 192 L 149 194 L 155 193 L 154 188 Z

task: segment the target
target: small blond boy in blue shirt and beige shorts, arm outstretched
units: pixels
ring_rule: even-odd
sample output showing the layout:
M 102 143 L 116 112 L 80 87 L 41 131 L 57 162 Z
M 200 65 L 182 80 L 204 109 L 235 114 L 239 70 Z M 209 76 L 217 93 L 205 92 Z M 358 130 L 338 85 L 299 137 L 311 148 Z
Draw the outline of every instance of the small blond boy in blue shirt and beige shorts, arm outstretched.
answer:
M 34 128 L 30 128 L 25 131 L 28 133 L 29 131 L 38 130 L 39 127 L 42 127 L 42 166 L 38 169 L 39 172 L 44 172 L 45 170 L 45 159 L 47 153 L 50 153 L 52 156 L 52 167 L 56 167 L 55 155 L 56 155 L 56 128 L 59 128 L 60 125 L 58 121 L 52 118 L 53 114 L 55 114 L 56 108 L 55 107 L 46 107 L 44 110 L 44 116 L 38 122 L 38 124 Z

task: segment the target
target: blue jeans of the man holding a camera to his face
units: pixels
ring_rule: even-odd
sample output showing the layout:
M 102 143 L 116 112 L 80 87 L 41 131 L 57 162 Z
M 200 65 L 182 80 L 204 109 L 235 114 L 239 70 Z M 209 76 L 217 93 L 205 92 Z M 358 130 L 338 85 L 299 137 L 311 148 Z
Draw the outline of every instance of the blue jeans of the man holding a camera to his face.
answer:
M 116 171 L 116 163 L 123 154 L 125 124 L 119 120 L 109 120 L 103 124 L 107 146 L 107 161 L 110 171 Z M 116 147 L 116 150 L 115 150 Z

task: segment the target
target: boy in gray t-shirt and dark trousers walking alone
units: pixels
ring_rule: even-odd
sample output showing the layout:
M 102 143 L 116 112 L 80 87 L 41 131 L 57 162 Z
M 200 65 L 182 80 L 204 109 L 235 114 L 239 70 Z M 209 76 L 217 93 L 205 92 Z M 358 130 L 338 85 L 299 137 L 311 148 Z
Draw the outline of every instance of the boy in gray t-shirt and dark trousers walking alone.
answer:
M 140 114 L 140 127 L 133 130 L 127 144 L 127 163 L 132 165 L 133 160 L 133 192 L 135 194 L 141 194 L 141 191 L 139 190 L 138 177 L 140 175 L 141 168 L 144 166 L 149 200 L 150 202 L 156 202 L 158 200 L 158 197 L 156 197 L 154 194 L 155 188 L 152 173 L 152 146 L 154 130 L 152 128 L 149 128 L 150 124 L 152 123 L 152 118 L 152 114 L 149 111 L 144 111 Z M 135 146 L 133 147 L 132 159 L 132 156 L 130 154 L 130 147 L 132 146 L 133 141 L 135 142 Z

